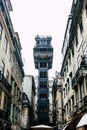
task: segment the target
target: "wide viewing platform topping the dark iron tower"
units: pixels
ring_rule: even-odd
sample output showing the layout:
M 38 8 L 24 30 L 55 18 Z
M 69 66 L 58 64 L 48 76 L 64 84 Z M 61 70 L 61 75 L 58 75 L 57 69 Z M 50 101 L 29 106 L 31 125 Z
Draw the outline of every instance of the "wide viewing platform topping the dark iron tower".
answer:
M 33 48 L 35 68 L 38 69 L 38 61 L 43 59 L 48 62 L 48 69 L 51 69 L 53 61 L 52 37 L 37 35 L 35 40 L 36 45 Z

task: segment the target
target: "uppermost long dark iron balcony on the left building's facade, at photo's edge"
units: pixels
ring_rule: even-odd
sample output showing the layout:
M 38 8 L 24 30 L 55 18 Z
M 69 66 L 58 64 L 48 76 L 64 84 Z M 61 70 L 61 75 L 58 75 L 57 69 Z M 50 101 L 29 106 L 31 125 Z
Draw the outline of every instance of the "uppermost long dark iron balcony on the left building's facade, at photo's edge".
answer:
M 0 86 L 7 91 L 9 94 L 11 94 L 11 85 L 8 83 L 7 79 L 4 77 L 4 75 L 0 71 Z

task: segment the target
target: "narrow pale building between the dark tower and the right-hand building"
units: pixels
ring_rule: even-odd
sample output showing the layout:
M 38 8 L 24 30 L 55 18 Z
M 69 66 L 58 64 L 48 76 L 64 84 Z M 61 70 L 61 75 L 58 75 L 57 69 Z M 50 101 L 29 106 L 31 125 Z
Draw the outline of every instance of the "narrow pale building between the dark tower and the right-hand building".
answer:
M 64 127 L 62 84 L 62 76 L 57 72 L 52 87 L 52 119 L 54 129 L 57 130 Z

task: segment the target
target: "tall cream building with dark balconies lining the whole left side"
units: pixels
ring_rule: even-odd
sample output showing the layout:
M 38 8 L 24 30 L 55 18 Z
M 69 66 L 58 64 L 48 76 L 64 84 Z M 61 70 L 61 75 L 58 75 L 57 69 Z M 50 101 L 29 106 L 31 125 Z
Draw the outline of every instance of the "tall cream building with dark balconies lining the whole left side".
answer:
M 0 129 L 21 129 L 21 97 L 24 77 L 21 44 L 9 12 L 10 0 L 0 0 Z

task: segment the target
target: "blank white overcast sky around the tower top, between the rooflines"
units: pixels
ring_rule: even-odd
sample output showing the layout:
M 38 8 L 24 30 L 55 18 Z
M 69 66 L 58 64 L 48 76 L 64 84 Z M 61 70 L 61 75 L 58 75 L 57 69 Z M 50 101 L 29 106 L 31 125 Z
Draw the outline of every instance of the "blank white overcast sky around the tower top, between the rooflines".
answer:
M 10 14 L 14 30 L 20 37 L 25 73 L 37 75 L 33 59 L 35 36 L 50 35 L 54 55 L 49 75 L 55 76 L 55 71 L 61 69 L 61 48 L 72 0 L 11 0 L 11 3 L 13 11 Z

